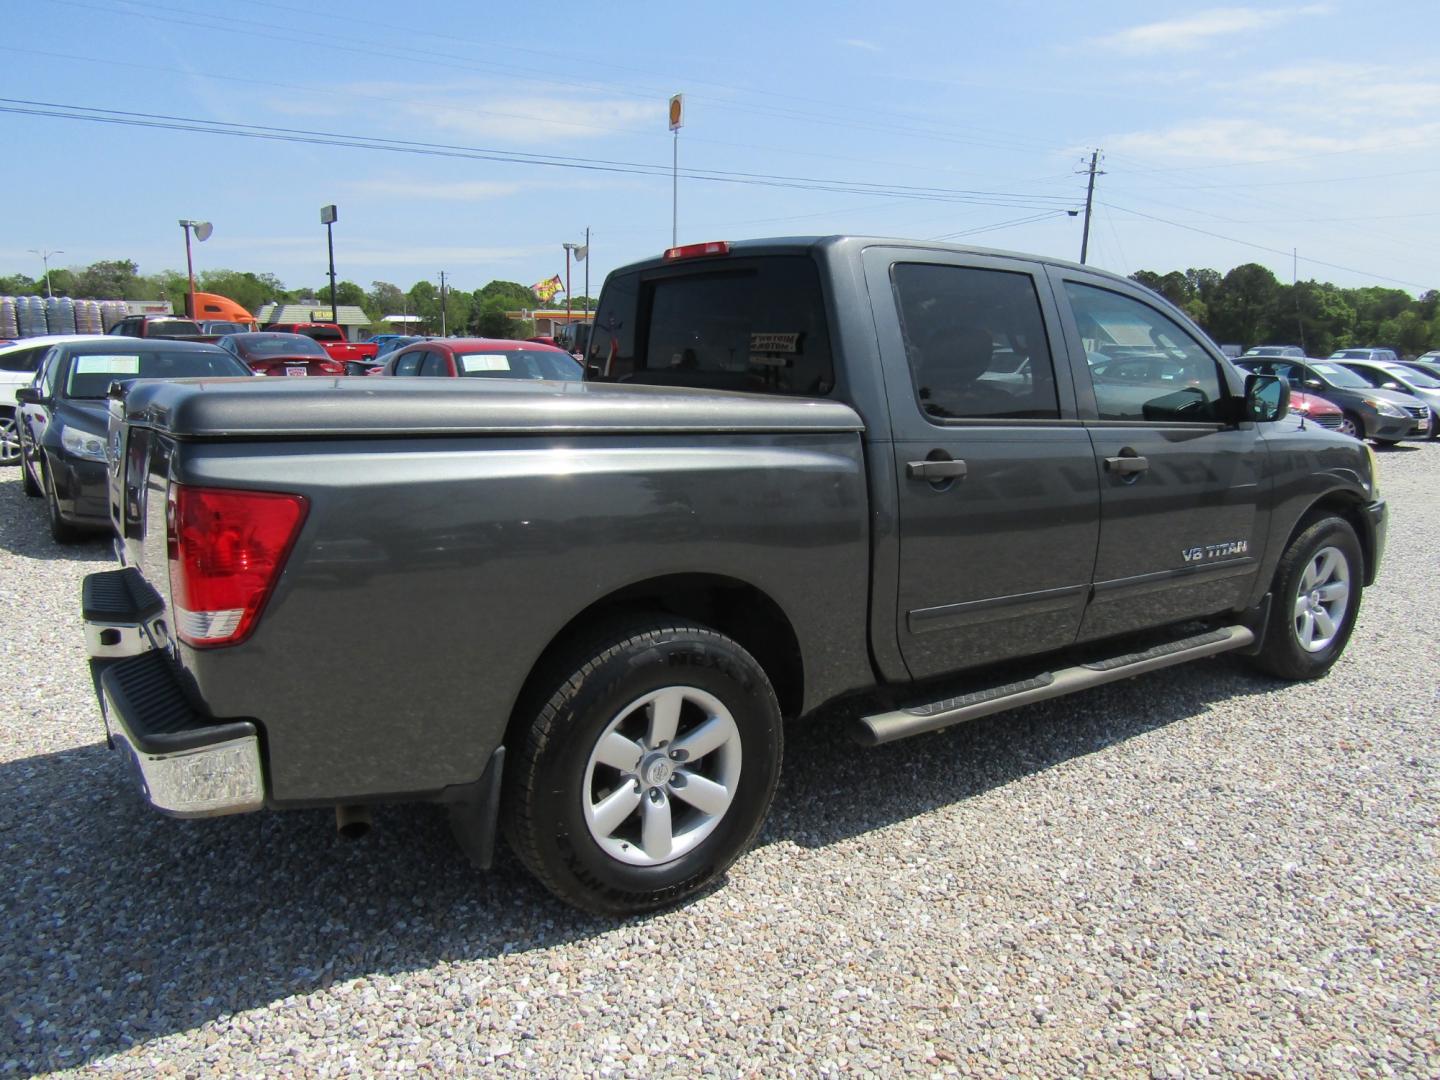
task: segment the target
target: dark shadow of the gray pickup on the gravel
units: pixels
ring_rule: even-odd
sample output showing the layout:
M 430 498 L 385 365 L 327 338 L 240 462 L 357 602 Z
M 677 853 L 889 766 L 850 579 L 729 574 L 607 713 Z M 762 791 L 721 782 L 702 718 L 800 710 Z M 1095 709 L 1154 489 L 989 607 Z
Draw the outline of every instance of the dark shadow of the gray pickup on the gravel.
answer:
M 834 844 L 1277 690 L 1220 660 L 871 750 L 835 724 L 792 726 L 760 844 Z M 0 765 L 0 1071 L 73 1068 L 359 976 L 628 924 L 563 906 L 508 851 L 471 870 L 435 808 L 379 808 L 347 844 L 327 811 L 173 822 L 130 786 L 98 743 Z M 432 1008 L 492 1009 L 484 989 Z

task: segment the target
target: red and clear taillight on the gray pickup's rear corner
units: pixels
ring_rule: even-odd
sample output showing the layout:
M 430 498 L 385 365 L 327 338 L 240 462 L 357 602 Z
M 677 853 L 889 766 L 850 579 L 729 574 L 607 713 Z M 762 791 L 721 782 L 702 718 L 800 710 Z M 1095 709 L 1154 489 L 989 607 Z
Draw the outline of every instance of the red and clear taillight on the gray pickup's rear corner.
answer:
M 249 635 L 307 508 L 304 495 L 170 485 L 170 599 L 181 641 L 210 648 Z

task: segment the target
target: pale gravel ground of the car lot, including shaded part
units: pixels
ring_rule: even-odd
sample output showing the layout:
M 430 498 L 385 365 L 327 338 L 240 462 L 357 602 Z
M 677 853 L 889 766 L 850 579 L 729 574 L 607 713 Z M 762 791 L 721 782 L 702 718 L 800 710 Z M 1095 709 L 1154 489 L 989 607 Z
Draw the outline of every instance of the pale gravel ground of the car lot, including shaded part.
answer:
M 0 1074 L 1440 1074 L 1440 445 L 1381 455 L 1329 678 L 1218 658 L 861 750 L 793 730 L 726 887 L 647 919 L 478 874 L 429 808 L 168 821 L 0 478 Z

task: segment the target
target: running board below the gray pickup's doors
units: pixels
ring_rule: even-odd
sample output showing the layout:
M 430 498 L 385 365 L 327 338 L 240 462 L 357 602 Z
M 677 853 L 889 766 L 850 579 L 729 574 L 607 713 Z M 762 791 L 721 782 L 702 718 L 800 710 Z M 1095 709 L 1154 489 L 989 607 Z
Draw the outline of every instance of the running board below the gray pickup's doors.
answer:
M 950 724 L 965 720 L 978 720 L 992 713 L 1004 713 L 1007 708 L 1028 706 L 1032 701 L 1047 701 L 1053 697 L 1073 694 L 1077 690 L 1089 690 L 1106 683 L 1115 683 L 1132 675 L 1143 675 L 1146 671 L 1158 671 L 1189 660 L 1212 657 L 1217 652 L 1244 648 L 1256 639 L 1247 626 L 1224 626 L 1223 629 L 1197 634 L 1192 638 L 1181 638 L 1166 645 L 1156 645 L 1143 652 L 1130 652 L 1123 657 L 1099 660 L 1090 664 L 1080 664 L 1060 671 L 1047 671 L 1034 678 L 1008 683 L 1002 687 L 979 690 L 962 697 L 950 697 L 943 701 L 932 701 L 912 708 L 896 708 L 890 713 L 863 716 L 854 729 L 855 742 L 864 746 L 878 746 L 896 739 L 906 739 L 912 734 L 937 732 Z

